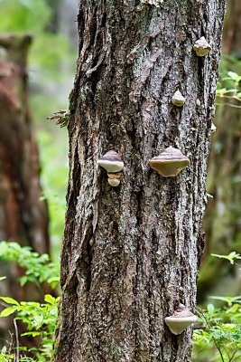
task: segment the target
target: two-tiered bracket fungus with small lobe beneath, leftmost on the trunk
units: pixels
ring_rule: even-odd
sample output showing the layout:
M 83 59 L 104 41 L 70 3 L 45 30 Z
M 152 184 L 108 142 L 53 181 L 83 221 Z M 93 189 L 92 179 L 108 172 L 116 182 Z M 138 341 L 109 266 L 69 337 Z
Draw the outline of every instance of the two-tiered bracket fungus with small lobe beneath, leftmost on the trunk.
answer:
M 97 160 L 97 165 L 107 170 L 108 183 L 116 187 L 120 185 L 120 177 L 124 167 L 124 162 L 116 151 L 108 151 L 104 156 Z

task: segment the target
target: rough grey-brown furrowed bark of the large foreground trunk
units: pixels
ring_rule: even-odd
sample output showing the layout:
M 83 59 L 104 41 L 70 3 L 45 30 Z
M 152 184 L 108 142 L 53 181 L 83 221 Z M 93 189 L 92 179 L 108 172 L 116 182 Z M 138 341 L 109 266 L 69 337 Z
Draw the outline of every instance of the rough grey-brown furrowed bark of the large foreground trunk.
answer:
M 179 301 L 195 306 L 224 8 L 80 3 L 56 362 L 190 360 L 191 328 L 175 337 L 164 318 Z M 212 51 L 198 58 L 203 35 Z M 181 109 L 171 104 L 177 89 Z M 163 178 L 148 161 L 168 146 L 190 167 Z M 116 188 L 97 168 L 110 149 L 125 162 Z

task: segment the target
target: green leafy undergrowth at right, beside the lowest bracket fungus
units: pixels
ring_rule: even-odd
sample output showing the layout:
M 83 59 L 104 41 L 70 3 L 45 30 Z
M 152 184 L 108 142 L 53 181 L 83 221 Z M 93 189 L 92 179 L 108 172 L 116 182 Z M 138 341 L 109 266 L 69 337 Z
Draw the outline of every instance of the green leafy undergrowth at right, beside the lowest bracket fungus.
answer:
M 241 259 L 236 252 L 228 255 L 212 254 L 212 256 L 228 260 L 234 264 L 235 259 Z M 227 303 L 223 308 L 209 304 L 206 310 L 198 310 L 201 326 L 194 331 L 193 361 L 237 362 L 241 358 L 241 296 L 221 297 L 211 296 L 213 300 Z M 204 353 L 203 353 L 204 351 Z M 206 353 L 208 352 L 208 355 Z M 201 356 L 201 357 L 200 357 Z

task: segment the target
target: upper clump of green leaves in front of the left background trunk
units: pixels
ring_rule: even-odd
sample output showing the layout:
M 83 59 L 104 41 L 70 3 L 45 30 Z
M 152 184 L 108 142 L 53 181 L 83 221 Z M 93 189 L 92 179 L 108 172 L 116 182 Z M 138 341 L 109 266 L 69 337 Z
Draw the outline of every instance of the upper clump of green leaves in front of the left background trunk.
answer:
M 28 246 L 21 247 L 18 243 L 0 243 L 0 259 L 6 262 L 17 262 L 26 269 L 25 275 L 20 278 L 23 286 L 27 281 L 39 285 L 47 281 L 51 288 L 55 288 L 60 279 L 60 266 L 50 261 L 47 254 L 32 252 Z

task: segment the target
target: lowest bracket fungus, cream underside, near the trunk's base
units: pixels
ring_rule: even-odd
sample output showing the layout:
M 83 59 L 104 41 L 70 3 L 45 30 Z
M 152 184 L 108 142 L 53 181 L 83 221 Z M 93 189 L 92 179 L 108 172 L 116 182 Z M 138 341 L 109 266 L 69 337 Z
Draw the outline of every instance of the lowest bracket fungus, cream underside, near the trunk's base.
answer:
M 196 320 L 197 317 L 181 303 L 172 316 L 165 318 L 165 322 L 171 330 L 171 333 L 175 335 L 181 334 L 184 329 L 188 328 Z

